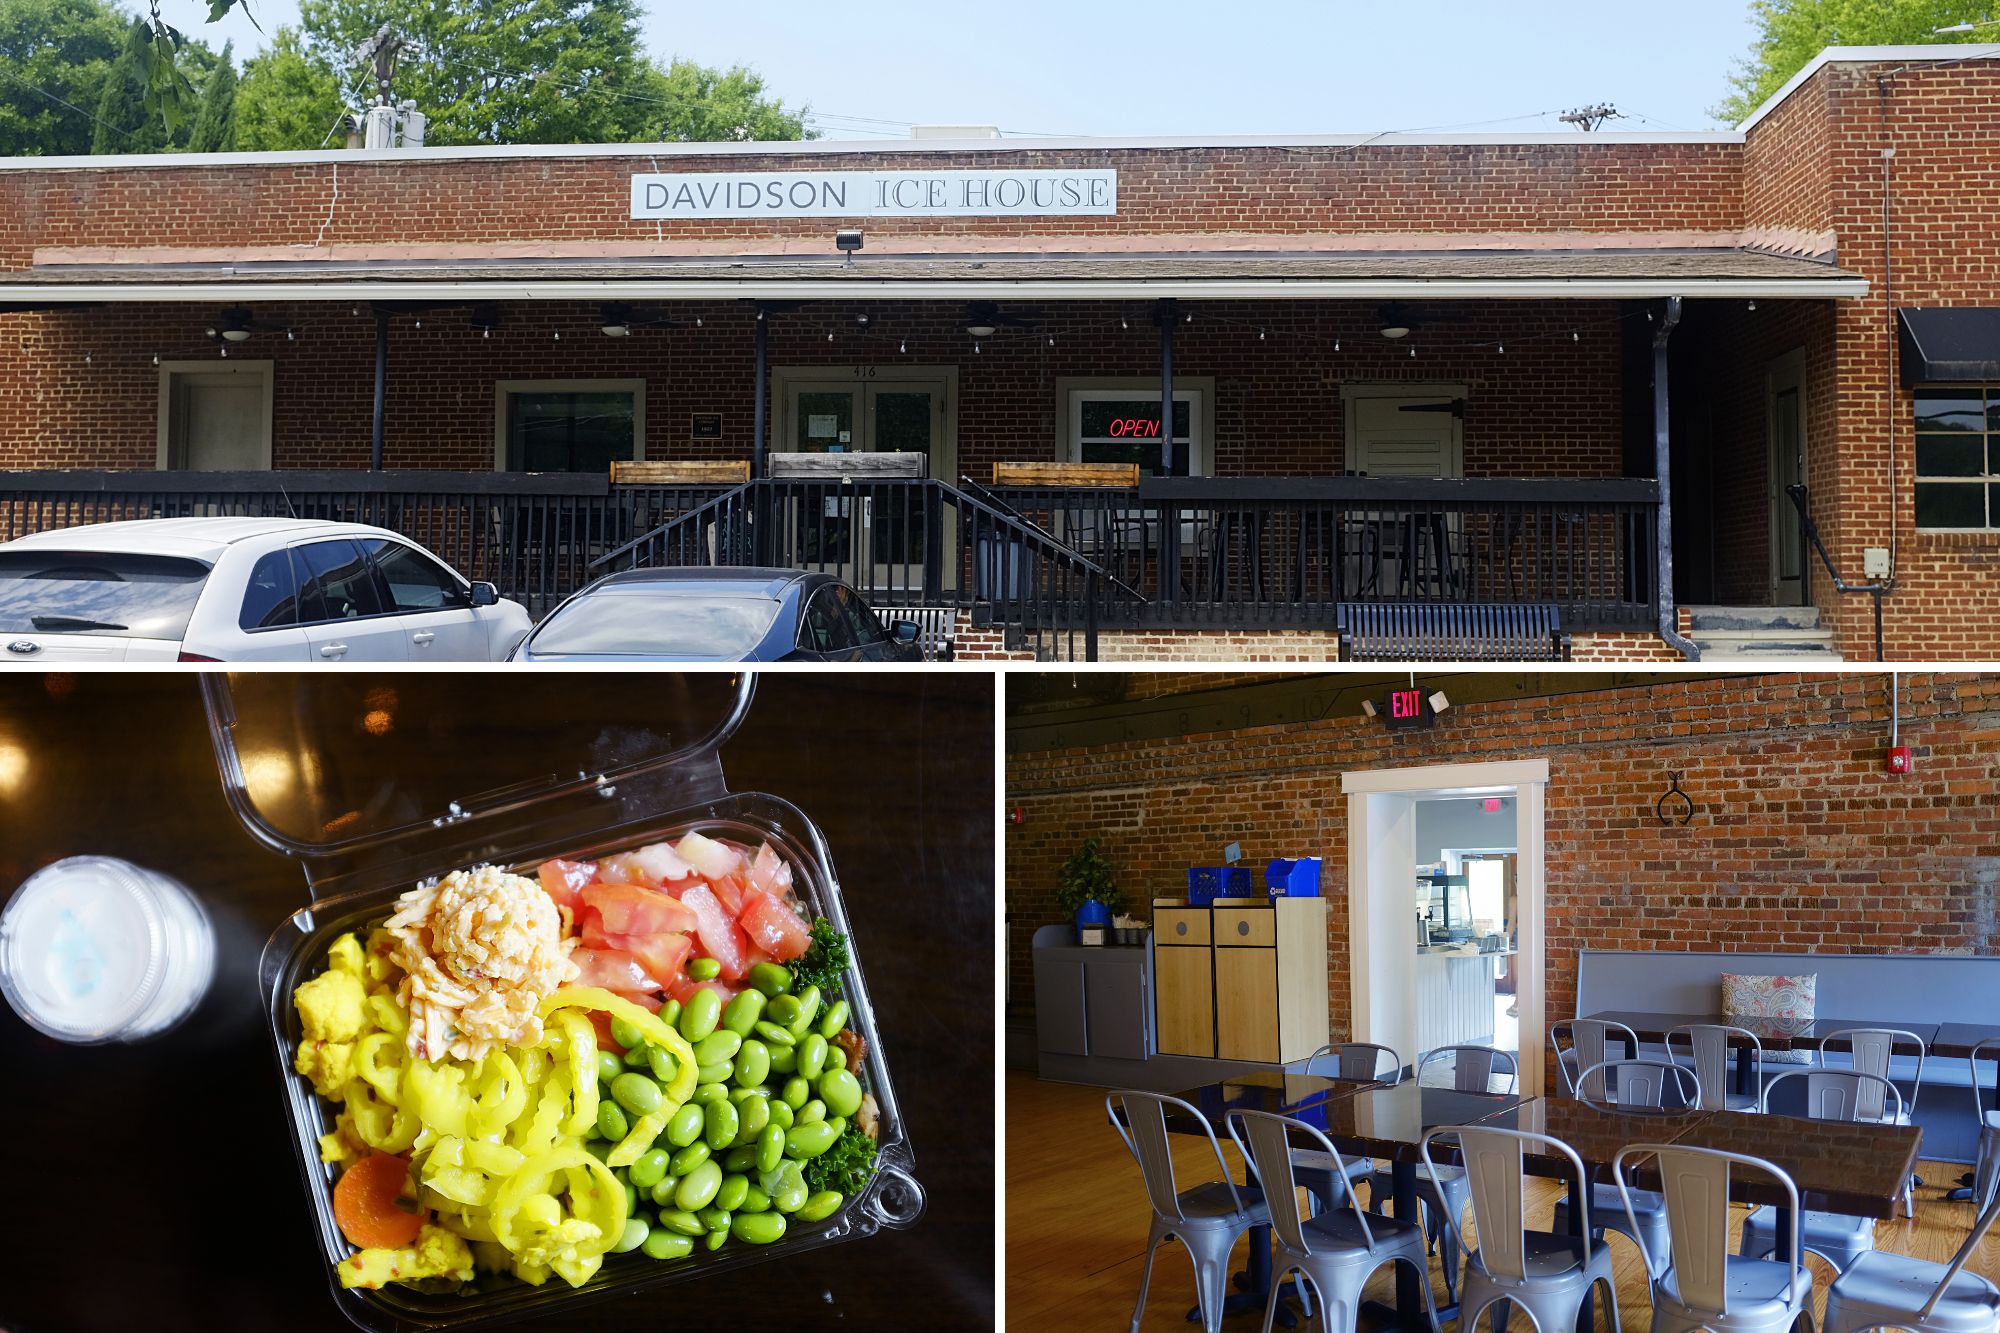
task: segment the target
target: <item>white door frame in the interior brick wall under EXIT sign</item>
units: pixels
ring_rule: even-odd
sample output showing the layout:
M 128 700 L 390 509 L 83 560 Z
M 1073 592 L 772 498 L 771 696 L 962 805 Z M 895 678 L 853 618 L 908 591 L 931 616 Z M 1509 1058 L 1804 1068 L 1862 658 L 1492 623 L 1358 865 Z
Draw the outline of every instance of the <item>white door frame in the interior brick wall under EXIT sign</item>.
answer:
M 1350 1035 L 1396 1047 L 1416 1063 L 1416 913 L 1408 867 L 1416 863 L 1416 799 L 1514 795 L 1514 889 L 1520 917 L 1520 1093 L 1542 1095 L 1548 1045 L 1548 887 L 1542 873 L 1548 761 L 1524 759 L 1340 775 L 1348 797 Z M 1394 961 L 1394 963 L 1388 963 Z

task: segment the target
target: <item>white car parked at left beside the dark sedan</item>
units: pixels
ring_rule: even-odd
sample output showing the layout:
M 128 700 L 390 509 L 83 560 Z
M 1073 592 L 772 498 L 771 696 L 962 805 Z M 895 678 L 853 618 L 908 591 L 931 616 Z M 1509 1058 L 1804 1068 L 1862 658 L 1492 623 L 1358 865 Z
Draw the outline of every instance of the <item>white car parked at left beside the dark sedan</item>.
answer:
M 362 522 L 140 518 L 0 544 L 6 662 L 498 662 L 530 624 Z

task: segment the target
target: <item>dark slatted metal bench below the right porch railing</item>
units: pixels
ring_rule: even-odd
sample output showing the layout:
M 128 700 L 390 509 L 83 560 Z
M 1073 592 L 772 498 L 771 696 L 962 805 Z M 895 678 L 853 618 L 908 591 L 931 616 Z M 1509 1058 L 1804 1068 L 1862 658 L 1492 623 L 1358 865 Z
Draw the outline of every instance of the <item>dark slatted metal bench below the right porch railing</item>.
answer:
M 1550 602 L 1340 602 L 1342 662 L 1566 662 L 1570 636 Z

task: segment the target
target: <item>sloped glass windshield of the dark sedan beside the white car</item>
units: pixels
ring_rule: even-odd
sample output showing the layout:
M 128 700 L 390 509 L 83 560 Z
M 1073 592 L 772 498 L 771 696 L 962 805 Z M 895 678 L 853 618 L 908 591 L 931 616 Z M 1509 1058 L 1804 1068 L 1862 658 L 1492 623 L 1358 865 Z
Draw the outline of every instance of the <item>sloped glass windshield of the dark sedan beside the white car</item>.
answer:
M 606 588 L 552 614 L 528 650 L 734 658 L 764 640 L 780 606 L 752 592 Z

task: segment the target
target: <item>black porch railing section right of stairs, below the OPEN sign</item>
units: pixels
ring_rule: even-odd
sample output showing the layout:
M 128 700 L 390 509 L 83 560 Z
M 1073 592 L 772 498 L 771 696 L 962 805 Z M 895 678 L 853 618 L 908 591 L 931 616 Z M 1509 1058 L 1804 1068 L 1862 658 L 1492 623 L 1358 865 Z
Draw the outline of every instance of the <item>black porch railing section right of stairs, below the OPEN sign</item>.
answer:
M 1658 484 L 1644 478 L 1196 476 L 988 494 L 1104 568 L 1108 626 L 1324 628 L 1334 606 L 1378 600 L 1546 602 L 1576 630 L 1656 618 Z

